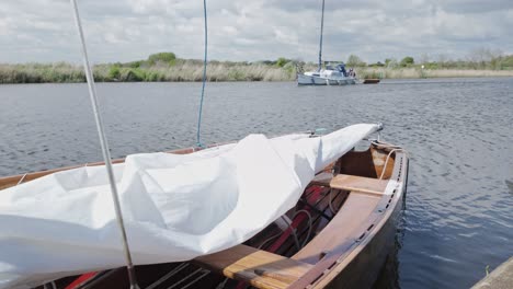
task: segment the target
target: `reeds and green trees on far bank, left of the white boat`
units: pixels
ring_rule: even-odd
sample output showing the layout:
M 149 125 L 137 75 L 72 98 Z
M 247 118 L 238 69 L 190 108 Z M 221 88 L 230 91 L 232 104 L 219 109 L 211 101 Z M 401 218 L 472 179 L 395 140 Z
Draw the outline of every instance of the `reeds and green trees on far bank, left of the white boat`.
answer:
M 296 63 L 289 59 L 256 62 L 212 60 L 208 81 L 286 81 L 294 80 Z M 102 63 L 93 67 L 99 82 L 201 81 L 203 61 L 180 59 L 173 53 L 153 54 L 145 60 Z M 66 62 L 0 65 L 0 83 L 84 82 L 83 68 Z

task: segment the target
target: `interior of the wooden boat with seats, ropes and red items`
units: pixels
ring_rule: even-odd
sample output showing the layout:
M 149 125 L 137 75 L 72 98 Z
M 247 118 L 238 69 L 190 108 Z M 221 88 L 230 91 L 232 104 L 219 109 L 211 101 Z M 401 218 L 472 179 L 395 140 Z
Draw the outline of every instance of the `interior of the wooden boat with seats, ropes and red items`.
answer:
M 189 152 L 192 150 L 174 153 Z M 378 143 L 347 152 L 316 175 L 293 209 L 243 244 L 185 263 L 136 266 L 139 287 L 311 287 L 340 265 L 354 248 L 352 244 L 362 241 L 379 221 L 376 209 L 384 201 L 390 204 L 385 190 L 397 170 L 398 153 L 400 149 Z M 0 188 L 47 173 L 2 178 Z M 269 184 L 269 189 L 272 187 Z M 70 276 L 38 288 L 128 287 L 127 270 L 122 267 Z

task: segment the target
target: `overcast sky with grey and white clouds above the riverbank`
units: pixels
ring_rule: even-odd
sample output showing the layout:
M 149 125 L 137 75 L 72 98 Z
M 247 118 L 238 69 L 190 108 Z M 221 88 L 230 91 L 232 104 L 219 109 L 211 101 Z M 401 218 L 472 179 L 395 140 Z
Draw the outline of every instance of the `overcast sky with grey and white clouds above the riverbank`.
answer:
M 78 0 L 94 62 L 202 58 L 202 0 Z M 321 0 L 207 0 L 209 58 L 316 61 Z M 513 54 L 513 0 L 326 0 L 324 59 Z M 68 0 L 1 0 L 0 62 L 80 61 Z

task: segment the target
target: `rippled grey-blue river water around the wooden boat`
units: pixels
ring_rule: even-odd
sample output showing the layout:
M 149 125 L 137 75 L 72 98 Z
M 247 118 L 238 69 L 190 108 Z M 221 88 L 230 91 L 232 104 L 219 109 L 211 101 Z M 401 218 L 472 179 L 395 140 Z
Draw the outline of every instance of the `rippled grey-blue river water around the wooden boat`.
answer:
M 196 143 L 201 83 L 98 85 L 113 157 Z M 468 288 L 513 255 L 513 79 L 208 83 L 202 142 L 383 122 L 410 153 L 379 288 Z M 0 85 L 0 175 L 101 160 L 86 84 Z

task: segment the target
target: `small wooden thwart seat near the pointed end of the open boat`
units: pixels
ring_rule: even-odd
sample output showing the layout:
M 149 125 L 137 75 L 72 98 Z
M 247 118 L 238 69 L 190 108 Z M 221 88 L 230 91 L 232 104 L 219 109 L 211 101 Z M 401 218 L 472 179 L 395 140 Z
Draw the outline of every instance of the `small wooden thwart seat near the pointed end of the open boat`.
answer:
M 329 186 L 350 192 L 363 192 L 368 194 L 384 194 L 387 180 L 377 180 L 357 175 L 320 173 L 311 181 L 314 185 Z

